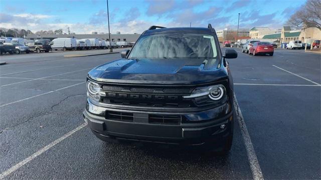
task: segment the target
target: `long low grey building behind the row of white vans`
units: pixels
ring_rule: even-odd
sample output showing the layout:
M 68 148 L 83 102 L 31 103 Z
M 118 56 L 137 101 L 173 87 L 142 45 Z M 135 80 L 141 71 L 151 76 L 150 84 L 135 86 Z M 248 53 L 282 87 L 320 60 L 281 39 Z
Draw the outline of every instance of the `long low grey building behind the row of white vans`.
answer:
M 110 34 L 111 41 L 127 41 L 127 42 L 136 42 L 140 34 Z M 100 38 L 104 40 L 109 40 L 108 33 L 105 34 L 28 34 L 27 39 L 35 40 L 40 38 L 48 38 L 48 39 L 54 39 L 54 38 L 64 38 L 64 37 L 75 37 L 77 39 L 82 38 Z

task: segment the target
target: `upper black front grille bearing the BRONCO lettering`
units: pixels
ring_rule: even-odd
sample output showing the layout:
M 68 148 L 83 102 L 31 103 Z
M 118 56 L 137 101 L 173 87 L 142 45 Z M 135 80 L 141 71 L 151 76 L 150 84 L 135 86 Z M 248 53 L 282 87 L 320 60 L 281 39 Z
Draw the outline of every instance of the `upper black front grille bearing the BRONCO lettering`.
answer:
M 143 86 L 143 85 L 102 85 L 100 102 L 127 106 L 148 107 L 194 107 L 192 99 L 184 99 L 190 95 L 194 87 L 177 86 Z

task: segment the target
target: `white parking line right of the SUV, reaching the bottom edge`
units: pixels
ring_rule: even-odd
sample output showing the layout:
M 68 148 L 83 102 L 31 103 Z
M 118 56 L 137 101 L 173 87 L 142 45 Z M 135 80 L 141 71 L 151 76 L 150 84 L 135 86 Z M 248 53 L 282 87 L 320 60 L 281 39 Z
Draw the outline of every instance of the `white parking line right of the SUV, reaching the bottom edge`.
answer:
M 260 164 L 259 161 L 257 160 L 256 154 L 255 154 L 255 150 L 251 141 L 251 137 L 249 135 L 249 132 L 247 130 L 240 106 L 236 100 L 236 96 L 234 94 L 234 107 L 236 109 L 236 115 L 238 118 L 238 123 L 240 125 L 241 128 L 241 132 L 242 132 L 242 136 L 243 136 L 243 140 L 244 140 L 244 144 L 245 144 L 245 148 L 246 148 L 246 152 L 247 152 L 247 158 L 249 160 L 250 163 L 250 168 L 252 171 L 252 176 L 254 180 L 258 180 L 261 179 L 263 180 L 263 174 L 260 168 Z

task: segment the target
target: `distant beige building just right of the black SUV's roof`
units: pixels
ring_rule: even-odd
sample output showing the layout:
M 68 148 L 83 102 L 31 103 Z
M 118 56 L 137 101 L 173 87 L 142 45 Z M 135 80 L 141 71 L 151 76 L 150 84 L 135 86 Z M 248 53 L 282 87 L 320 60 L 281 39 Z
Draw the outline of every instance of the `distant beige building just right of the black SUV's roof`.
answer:
M 249 28 L 239 28 L 239 37 L 249 36 Z M 219 41 L 224 40 L 232 40 L 235 41 L 237 39 L 237 29 L 225 28 L 224 30 L 216 31 L 217 37 Z

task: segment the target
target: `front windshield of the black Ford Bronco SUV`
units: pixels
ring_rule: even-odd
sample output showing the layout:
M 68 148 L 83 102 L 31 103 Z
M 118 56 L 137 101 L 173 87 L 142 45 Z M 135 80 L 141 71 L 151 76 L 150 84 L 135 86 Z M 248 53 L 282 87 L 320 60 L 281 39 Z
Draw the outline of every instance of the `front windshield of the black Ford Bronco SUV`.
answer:
M 129 58 L 216 58 L 213 35 L 163 33 L 139 38 Z

